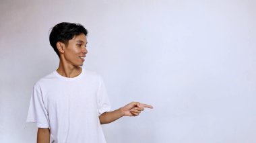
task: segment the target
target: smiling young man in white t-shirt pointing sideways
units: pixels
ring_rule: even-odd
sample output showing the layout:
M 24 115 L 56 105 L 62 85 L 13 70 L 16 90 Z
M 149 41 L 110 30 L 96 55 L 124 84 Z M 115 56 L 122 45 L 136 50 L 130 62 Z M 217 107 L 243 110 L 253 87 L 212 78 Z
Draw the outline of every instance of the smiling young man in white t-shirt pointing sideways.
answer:
M 81 67 L 88 53 L 87 34 L 77 23 L 59 23 L 51 31 L 59 67 L 34 85 L 27 118 L 38 126 L 38 143 L 49 143 L 50 136 L 55 143 L 104 143 L 100 124 L 152 108 L 132 102 L 110 111 L 102 77 Z

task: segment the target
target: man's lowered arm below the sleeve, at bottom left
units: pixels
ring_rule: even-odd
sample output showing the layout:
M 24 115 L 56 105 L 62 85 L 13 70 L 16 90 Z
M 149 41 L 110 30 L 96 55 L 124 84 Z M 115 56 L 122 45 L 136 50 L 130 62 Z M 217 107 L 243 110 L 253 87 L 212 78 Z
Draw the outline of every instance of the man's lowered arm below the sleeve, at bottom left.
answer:
M 50 142 L 50 129 L 38 128 L 37 143 L 49 143 L 49 142 Z

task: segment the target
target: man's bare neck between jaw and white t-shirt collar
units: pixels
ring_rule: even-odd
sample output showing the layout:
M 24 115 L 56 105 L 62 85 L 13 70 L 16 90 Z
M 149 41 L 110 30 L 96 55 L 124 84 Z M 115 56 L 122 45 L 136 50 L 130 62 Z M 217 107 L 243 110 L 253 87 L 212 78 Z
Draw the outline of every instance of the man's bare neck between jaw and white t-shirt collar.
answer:
M 59 62 L 59 67 L 57 68 L 57 73 L 63 77 L 77 77 L 82 73 L 82 68 L 79 66 L 73 66 L 69 64 L 64 64 L 63 62 Z

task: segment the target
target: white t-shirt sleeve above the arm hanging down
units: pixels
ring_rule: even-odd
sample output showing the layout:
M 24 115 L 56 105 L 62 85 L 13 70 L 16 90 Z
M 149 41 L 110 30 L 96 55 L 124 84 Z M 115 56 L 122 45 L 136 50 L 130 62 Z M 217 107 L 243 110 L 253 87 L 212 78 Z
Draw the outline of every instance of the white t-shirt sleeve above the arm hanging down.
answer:
M 48 112 L 44 106 L 42 92 L 38 85 L 33 88 L 26 122 L 34 122 L 38 128 L 49 128 Z

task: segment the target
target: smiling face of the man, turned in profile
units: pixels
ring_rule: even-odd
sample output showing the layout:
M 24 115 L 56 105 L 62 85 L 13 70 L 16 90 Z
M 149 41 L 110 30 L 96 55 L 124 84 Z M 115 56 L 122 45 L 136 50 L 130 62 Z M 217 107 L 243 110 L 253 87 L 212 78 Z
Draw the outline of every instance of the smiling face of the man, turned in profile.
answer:
M 70 66 L 82 66 L 87 54 L 87 39 L 84 34 L 74 36 L 64 48 L 63 62 Z

